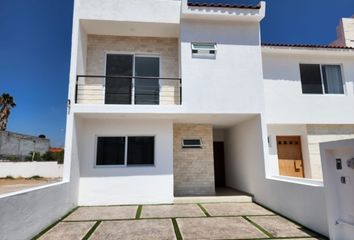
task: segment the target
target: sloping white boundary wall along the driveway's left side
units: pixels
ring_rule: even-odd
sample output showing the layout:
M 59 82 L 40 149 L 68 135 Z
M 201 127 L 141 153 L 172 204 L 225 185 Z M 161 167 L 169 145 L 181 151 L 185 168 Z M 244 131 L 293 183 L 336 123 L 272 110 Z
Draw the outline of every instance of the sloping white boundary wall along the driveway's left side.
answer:
M 31 239 L 77 206 L 76 126 L 68 117 L 62 182 L 0 196 L 1 240 Z

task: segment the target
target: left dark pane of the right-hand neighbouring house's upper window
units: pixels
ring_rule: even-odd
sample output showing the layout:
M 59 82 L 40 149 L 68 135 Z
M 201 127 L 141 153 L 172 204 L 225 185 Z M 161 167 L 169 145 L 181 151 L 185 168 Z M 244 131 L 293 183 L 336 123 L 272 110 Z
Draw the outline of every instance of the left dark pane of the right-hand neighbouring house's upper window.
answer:
M 300 73 L 302 93 L 323 93 L 320 65 L 300 64 Z

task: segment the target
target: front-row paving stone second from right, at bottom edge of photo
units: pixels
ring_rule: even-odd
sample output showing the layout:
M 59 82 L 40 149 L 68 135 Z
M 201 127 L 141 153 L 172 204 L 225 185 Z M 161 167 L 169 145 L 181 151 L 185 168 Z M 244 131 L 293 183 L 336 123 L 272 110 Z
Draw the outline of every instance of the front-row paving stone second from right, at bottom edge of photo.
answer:
M 241 217 L 179 218 L 183 239 L 245 239 L 267 236 Z

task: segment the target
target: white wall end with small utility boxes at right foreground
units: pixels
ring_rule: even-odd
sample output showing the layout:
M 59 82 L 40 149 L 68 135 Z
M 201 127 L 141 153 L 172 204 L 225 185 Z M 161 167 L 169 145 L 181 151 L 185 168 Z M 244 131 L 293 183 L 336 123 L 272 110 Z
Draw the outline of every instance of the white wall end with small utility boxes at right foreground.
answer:
M 347 160 L 353 157 L 354 139 L 321 144 L 328 227 L 333 240 L 351 240 L 354 236 L 354 169 L 347 167 Z M 337 169 L 337 159 L 341 159 L 342 169 Z M 346 184 L 341 183 L 341 177 L 346 178 Z

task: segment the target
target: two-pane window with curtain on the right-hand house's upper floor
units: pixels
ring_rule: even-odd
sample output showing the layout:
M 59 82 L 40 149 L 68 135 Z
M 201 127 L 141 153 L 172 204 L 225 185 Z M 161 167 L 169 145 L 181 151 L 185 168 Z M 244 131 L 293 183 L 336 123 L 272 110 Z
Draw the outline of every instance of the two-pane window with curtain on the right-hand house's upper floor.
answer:
M 343 94 L 340 65 L 300 64 L 302 93 Z

